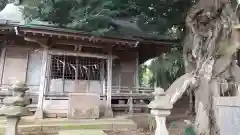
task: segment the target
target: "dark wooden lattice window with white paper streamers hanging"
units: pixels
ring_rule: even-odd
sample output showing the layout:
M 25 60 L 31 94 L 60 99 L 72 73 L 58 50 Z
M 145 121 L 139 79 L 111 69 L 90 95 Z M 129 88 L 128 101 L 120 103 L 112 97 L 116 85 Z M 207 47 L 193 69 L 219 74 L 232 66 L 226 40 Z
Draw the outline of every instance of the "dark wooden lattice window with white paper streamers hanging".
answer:
M 52 55 L 51 78 L 69 80 L 100 80 L 104 60 L 79 56 Z

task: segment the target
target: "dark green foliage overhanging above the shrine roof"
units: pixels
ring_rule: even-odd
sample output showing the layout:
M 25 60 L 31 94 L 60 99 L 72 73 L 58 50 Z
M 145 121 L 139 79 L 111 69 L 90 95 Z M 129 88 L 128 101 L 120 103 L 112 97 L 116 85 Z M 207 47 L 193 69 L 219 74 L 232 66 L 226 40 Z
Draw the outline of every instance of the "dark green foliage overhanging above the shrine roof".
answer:
M 172 27 L 182 31 L 186 12 L 194 1 L 23 0 L 22 3 L 29 20 L 39 19 L 97 35 L 158 38 Z

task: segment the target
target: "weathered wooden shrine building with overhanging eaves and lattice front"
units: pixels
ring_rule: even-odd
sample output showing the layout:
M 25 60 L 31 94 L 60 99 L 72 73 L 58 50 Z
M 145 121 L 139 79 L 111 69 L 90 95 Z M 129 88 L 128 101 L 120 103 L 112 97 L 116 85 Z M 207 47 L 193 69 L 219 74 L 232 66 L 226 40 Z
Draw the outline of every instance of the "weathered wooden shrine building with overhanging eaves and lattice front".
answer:
M 112 96 L 118 92 L 143 91 L 139 65 L 178 42 L 93 37 L 75 30 L 8 23 L 16 20 L 6 17 L 1 22 L 1 95 L 9 94 L 5 89 L 13 81 L 26 82 L 30 95 L 38 96 L 32 102 L 46 114 L 66 114 L 69 93 L 98 94 L 101 104 L 111 110 Z

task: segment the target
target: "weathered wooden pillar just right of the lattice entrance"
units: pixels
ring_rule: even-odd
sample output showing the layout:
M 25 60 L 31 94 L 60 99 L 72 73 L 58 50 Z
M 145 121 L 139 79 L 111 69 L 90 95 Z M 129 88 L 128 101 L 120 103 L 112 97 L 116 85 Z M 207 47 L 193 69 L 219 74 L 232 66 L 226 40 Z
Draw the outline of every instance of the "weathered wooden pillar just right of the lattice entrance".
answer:
M 112 117 L 112 53 L 108 54 L 107 58 L 107 107 L 106 116 Z

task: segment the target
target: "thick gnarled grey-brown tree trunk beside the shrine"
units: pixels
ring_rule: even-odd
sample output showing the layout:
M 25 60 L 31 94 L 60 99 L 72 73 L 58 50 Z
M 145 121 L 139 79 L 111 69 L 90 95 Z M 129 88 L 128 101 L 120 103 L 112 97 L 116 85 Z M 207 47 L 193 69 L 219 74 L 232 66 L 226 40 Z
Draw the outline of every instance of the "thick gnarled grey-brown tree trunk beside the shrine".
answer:
M 235 81 L 231 66 L 238 44 L 232 42 L 232 28 L 237 23 L 228 0 L 200 0 L 187 16 L 184 59 L 186 71 L 193 72 L 198 84 L 197 135 L 219 134 L 213 97 L 220 96 L 219 80 Z

